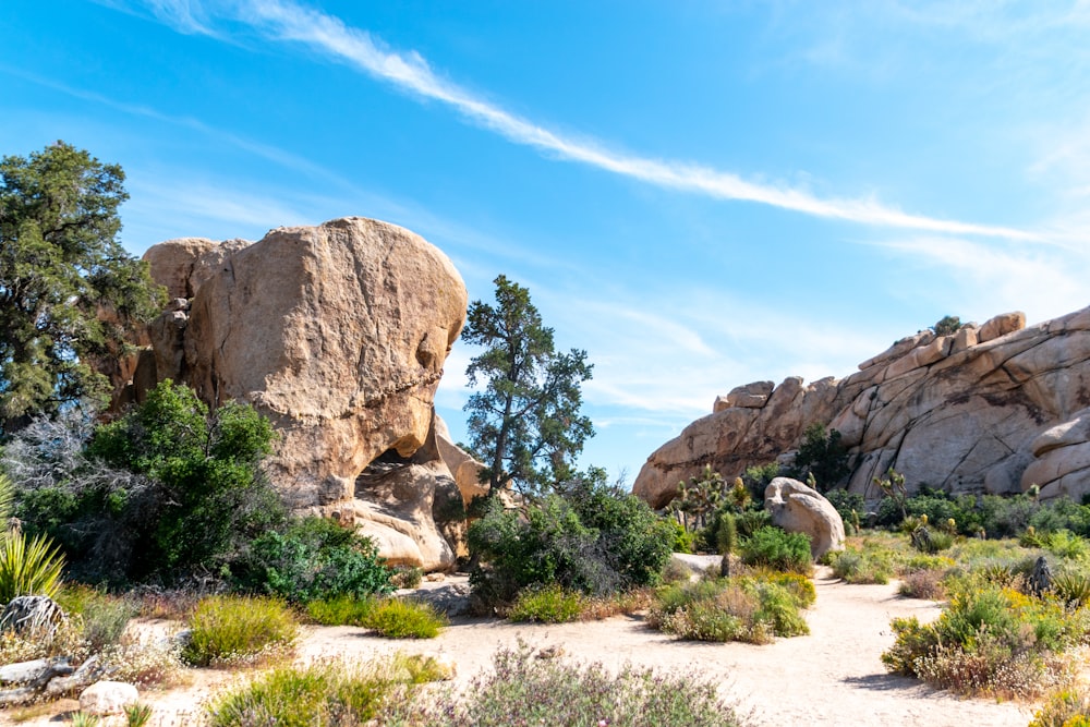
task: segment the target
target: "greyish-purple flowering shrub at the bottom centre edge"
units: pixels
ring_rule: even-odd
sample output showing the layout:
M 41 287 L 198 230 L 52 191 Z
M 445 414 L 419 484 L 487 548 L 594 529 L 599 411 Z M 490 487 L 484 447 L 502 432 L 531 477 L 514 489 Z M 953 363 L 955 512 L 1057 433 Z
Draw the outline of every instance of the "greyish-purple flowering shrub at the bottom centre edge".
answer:
M 736 727 L 735 711 L 715 686 L 693 675 L 665 676 L 623 667 L 614 674 L 601 664 L 576 666 L 564 659 L 535 658 L 521 644 L 493 657 L 493 670 L 476 678 L 459 696 L 431 698 L 421 722 L 428 727 L 506 727 L 507 725 L 656 725 L 661 727 Z

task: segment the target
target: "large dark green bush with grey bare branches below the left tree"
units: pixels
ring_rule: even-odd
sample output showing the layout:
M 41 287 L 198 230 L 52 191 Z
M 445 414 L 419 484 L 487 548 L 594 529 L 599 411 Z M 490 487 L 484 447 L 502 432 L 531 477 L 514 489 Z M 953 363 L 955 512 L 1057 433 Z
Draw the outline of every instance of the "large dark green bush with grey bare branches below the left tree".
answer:
M 121 419 L 90 428 L 73 415 L 39 421 L 4 452 L 16 514 L 64 549 L 88 582 L 219 572 L 243 543 L 284 517 L 262 474 L 271 425 L 229 402 L 209 414 L 164 381 Z

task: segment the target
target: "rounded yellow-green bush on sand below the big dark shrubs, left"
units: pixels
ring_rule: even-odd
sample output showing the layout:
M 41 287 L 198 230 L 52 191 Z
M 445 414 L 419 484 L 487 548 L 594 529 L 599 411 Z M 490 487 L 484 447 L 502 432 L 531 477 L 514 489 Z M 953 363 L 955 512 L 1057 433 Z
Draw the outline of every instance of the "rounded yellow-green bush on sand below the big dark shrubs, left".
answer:
M 209 596 L 189 618 L 190 641 L 182 657 L 208 666 L 277 656 L 295 644 L 299 626 L 284 605 L 271 598 Z

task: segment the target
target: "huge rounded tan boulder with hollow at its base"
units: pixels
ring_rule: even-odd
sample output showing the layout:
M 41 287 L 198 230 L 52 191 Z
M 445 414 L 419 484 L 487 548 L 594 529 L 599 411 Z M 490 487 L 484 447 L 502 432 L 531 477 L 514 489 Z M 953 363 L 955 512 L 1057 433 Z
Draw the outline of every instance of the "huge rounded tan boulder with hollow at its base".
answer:
M 395 561 L 453 562 L 431 508 L 437 482 L 458 490 L 425 445 L 468 301 L 441 252 L 352 217 L 252 244 L 172 240 L 145 259 L 174 300 L 149 326 L 134 387 L 172 378 L 214 407 L 252 403 L 278 433 L 269 473 L 298 509 L 355 522 Z M 397 476 L 363 493 L 358 477 L 383 457 Z

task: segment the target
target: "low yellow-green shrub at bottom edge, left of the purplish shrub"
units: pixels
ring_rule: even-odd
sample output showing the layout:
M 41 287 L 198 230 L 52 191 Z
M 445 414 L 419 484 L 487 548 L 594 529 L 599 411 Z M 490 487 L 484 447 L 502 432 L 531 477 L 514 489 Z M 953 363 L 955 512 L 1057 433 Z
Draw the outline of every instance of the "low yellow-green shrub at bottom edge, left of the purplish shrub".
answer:
M 214 695 L 213 727 L 363 725 L 405 702 L 408 688 L 443 678 L 431 657 L 398 655 L 389 665 L 326 662 L 272 669 Z

